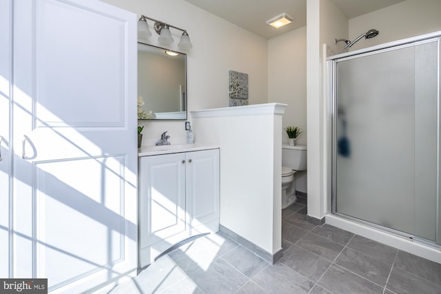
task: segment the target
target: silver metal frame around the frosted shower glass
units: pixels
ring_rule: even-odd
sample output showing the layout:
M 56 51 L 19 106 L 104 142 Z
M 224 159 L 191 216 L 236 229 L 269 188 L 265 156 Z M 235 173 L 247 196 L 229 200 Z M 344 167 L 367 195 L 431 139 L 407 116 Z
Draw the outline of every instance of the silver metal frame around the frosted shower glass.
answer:
M 404 39 L 401 41 L 394 41 L 394 42 L 390 42 L 390 43 L 384 43 L 382 45 L 376 45 L 373 46 L 371 48 L 365 48 L 362 50 L 356 50 L 353 52 L 348 52 L 348 53 L 344 53 L 344 54 L 338 54 L 335 56 L 330 56 L 327 58 L 327 69 L 325 72 L 325 75 L 328 76 L 327 81 L 328 81 L 328 115 L 329 117 L 329 122 L 331 122 L 331 127 L 330 127 L 330 134 L 328 135 L 329 140 L 328 142 L 331 144 L 331 148 L 329 151 L 329 171 L 330 171 L 330 189 L 331 189 L 331 196 L 330 196 L 330 205 L 328 207 L 329 212 L 331 212 L 333 215 L 338 216 L 340 218 L 349 220 L 351 222 L 355 222 L 357 224 L 361 224 L 362 226 L 366 226 L 366 227 L 370 227 L 372 229 L 376 229 L 379 231 L 383 231 L 387 234 L 391 234 L 394 235 L 398 238 L 404 238 L 407 240 L 411 240 L 412 242 L 416 242 L 418 244 L 424 244 L 427 246 L 430 246 L 434 249 L 441 249 L 441 196 L 440 196 L 440 84 L 441 84 L 441 72 L 440 72 L 440 59 L 441 56 L 440 54 L 440 37 L 441 37 L 441 32 L 433 32 L 430 34 L 423 34 L 421 36 L 416 36 L 416 37 L 412 37 L 409 39 Z M 437 145 L 437 150 L 438 150 L 438 154 L 437 154 L 437 168 L 436 168 L 436 178 L 437 180 L 437 184 L 436 184 L 436 224 L 435 224 L 435 242 L 431 242 L 429 240 L 426 240 L 424 238 L 419 238 L 416 235 L 411 235 L 410 233 L 405 233 L 403 231 L 398 231 L 396 229 L 392 229 L 390 227 L 384 227 L 380 224 L 376 224 L 373 222 L 369 222 L 367 220 L 362 220 L 361 218 L 356 218 L 353 216 L 348 216 L 345 215 L 343 213 L 338 213 L 337 209 L 336 209 L 336 198 L 337 198 L 337 191 L 336 191 L 336 160 L 337 160 L 337 134 L 336 134 L 336 129 L 337 129 L 337 124 L 338 124 L 338 119 L 337 119 L 337 82 L 336 82 L 336 78 L 337 78 L 337 63 L 340 61 L 345 61 L 345 60 L 349 60 L 349 59 L 354 59 L 354 58 L 358 58 L 358 57 L 362 57 L 362 56 L 369 56 L 372 54 L 377 54 L 378 52 L 388 52 L 388 51 L 392 51 L 392 50 L 397 50 L 400 48 L 407 48 L 407 47 L 411 47 L 414 46 L 416 44 L 420 44 L 420 43 L 428 43 L 433 41 L 434 39 L 438 39 L 438 91 L 437 91 L 437 99 L 438 99 L 438 126 L 437 126 L 437 136 L 438 136 L 438 145 Z

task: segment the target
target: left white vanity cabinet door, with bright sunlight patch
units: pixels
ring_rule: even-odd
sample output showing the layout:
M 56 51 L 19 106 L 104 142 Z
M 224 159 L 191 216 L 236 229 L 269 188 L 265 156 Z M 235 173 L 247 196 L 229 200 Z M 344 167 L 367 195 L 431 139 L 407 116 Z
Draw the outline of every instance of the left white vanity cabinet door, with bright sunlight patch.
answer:
M 185 154 L 145 156 L 139 169 L 143 248 L 185 231 Z

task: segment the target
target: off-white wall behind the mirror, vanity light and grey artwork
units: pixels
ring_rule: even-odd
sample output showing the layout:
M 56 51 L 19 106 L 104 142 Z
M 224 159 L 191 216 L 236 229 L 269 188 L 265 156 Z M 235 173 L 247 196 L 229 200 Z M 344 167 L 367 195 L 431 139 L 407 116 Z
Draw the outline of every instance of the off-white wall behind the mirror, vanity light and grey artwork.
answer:
M 186 52 L 189 111 L 228 106 L 229 70 L 248 74 L 249 104 L 267 102 L 267 40 L 183 0 L 103 1 L 187 30 L 193 44 L 193 48 Z M 148 23 L 153 34 L 149 41 L 158 45 L 152 21 Z M 181 33 L 174 29 L 171 32 L 175 41 L 170 49 L 181 51 L 177 47 Z M 182 120 L 150 120 L 141 124 L 145 123 L 143 145 L 154 145 L 164 131 L 169 132 L 172 143 L 186 140 Z

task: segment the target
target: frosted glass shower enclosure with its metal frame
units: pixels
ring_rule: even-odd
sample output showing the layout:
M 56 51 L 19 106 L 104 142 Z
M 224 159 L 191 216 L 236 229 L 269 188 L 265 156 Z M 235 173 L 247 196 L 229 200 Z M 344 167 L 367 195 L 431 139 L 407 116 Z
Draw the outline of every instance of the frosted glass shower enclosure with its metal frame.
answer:
M 332 212 L 441 245 L 440 36 L 336 57 Z

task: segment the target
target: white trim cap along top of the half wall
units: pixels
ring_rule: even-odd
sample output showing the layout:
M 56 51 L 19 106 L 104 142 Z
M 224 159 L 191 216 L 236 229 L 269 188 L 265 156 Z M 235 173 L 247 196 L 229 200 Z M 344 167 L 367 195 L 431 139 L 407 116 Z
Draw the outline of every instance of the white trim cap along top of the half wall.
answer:
M 265 103 L 243 105 L 236 107 L 223 107 L 213 109 L 194 110 L 190 112 L 192 118 L 206 118 L 218 116 L 250 116 L 256 114 L 284 114 L 287 104 Z

